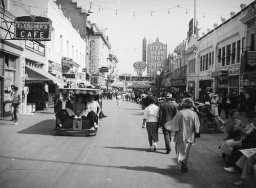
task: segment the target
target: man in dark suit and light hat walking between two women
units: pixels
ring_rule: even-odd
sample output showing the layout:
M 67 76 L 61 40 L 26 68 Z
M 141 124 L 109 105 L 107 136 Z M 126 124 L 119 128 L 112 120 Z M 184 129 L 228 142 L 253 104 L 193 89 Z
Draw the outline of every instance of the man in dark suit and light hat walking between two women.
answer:
M 159 126 L 162 127 L 162 130 L 163 130 L 166 154 L 169 154 L 171 151 L 170 141 L 172 140 L 172 137 L 171 137 L 172 131 L 167 130 L 164 127 L 164 124 L 167 121 L 170 121 L 174 118 L 174 116 L 177 113 L 178 104 L 175 103 L 174 98 L 170 93 L 167 93 L 165 99 L 166 99 L 166 102 L 160 104 L 158 121 L 159 121 Z

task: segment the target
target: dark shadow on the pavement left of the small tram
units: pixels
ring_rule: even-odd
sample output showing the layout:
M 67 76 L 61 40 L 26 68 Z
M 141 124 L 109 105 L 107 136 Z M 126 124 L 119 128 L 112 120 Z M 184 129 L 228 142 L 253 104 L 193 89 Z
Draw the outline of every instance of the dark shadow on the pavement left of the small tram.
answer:
M 17 133 L 55 136 L 55 133 L 53 132 L 54 127 L 55 127 L 55 119 L 49 119 L 49 120 L 44 120 L 39 123 L 36 123 L 23 130 L 20 130 Z

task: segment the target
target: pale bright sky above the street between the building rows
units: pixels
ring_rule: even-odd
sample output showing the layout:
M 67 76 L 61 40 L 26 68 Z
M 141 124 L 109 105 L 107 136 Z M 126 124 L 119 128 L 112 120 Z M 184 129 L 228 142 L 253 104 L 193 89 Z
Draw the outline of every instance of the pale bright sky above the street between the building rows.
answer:
M 196 11 L 195 11 L 196 2 Z M 91 9 L 88 17 L 106 35 L 112 53 L 119 60 L 118 72 L 136 75 L 133 64 L 142 61 L 142 40 L 148 43 L 156 39 L 167 44 L 167 53 L 172 53 L 188 32 L 188 22 L 194 18 L 200 22 L 202 32 L 221 24 L 221 17 L 230 18 L 230 12 L 238 13 L 240 4 L 246 6 L 252 0 L 77 0 L 78 5 Z M 146 72 L 143 73 L 143 76 Z

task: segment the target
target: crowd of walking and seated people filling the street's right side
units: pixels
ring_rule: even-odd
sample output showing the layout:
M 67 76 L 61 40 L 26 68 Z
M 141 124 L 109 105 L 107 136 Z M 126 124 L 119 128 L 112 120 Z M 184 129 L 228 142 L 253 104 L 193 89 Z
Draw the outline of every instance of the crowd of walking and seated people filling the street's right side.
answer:
M 256 168 L 256 113 L 251 95 L 241 92 L 239 96 L 232 94 L 229 97 L 227 94 L 209 92 L 203 100 L 201 98 L 195 102 L 189 93 L 179 93 L 175 96 L 176 99 L 172 94 L 166 93 L 165 97 L 161 98 L 152 94 L 144 97 L 145 101 L 148 98 L 148 103 L 145 102 L 142 128 L 147 130 L 150 151 L 157 150 L 160 127 L 166 154 L 170 153 L 171 133 L 174 132 L 178 163 L 181 163 L 181 172 L 186 173 L 189 151 L 196 138 L 200 138 L 200 132 L 210 130 L 211 133 L 223 133 L 222 129 L 226 127 L 228 136 L 219 147 L 225 162 L 224 170 L 230 173 L 241 172 L 240 181 L 234 184 L 246 184 L 253 172 L 253 166 Z M 219 116 L 221 110 L 225 111 L 226 122 Z M 247 116 L 249 124 L 244 125 L 239 120 L 238 115 L 241 112 Z M 252 150 L 254 153 L 248 157 L 240 150 Z

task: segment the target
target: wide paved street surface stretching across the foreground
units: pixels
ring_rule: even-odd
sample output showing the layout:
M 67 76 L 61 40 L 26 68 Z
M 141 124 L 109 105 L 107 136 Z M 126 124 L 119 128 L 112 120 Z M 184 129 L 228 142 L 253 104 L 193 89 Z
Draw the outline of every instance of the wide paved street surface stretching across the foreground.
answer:
M 226 133 L 201 135 L 191 148 L 189 171 L 182 174 L 174 143 L 166 155 L 159 129 L 157 151 L 147 152 L 140 105 L 121 105 L 119 109 L 115 99 L 103 100 L 108 118 L 92 137 L 56 136 L 53 109 L 22 115 L 17 126 L 10 117 L 2 118 L 0 187 L 236 187 L 240 174 L 223 170 L 218 150 Z M 255 180 L 244 187 L 256 187 Z

